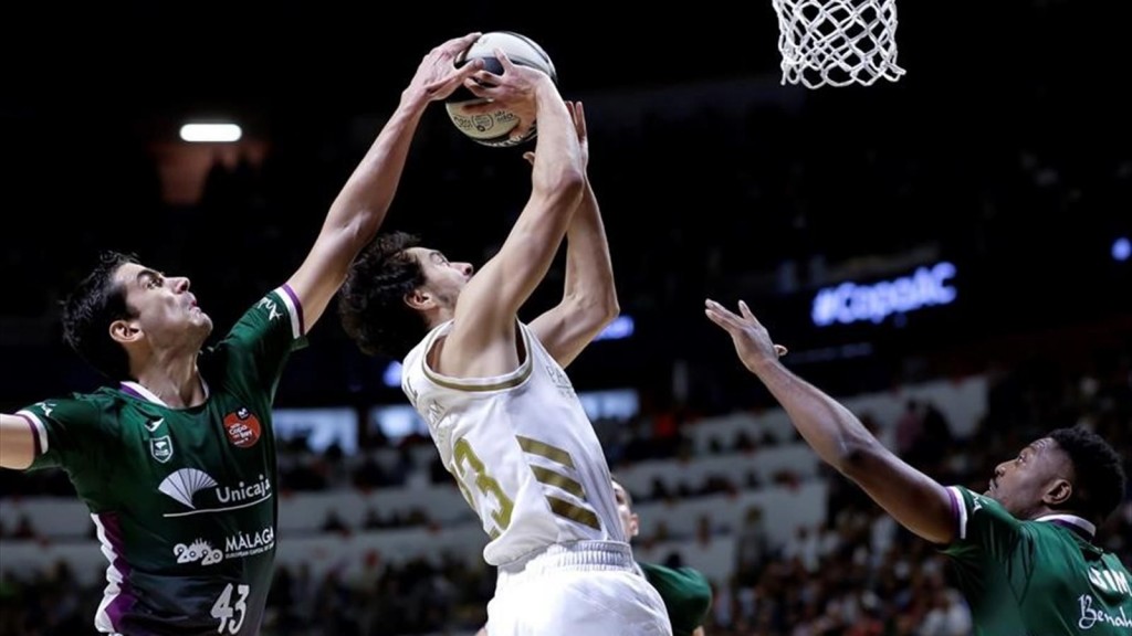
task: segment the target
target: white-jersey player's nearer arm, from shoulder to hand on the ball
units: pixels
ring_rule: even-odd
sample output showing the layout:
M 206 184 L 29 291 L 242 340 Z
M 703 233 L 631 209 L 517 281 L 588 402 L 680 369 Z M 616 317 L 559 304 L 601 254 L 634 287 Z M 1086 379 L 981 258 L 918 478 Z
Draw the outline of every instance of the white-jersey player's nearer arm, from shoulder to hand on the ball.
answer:
M 461 292 L 455 321 L 440 353 L 439 371 L 486 377 L 515 368 L 518 308 L 542 281 L 561 244 L 584 188 L 584 167 L 571 113 L 549 76 L 518 67 L 496 51 L 503 75 L 479 71 L 465 83 L 473 93 L 537 114 L 531 196 L 499 252 Z

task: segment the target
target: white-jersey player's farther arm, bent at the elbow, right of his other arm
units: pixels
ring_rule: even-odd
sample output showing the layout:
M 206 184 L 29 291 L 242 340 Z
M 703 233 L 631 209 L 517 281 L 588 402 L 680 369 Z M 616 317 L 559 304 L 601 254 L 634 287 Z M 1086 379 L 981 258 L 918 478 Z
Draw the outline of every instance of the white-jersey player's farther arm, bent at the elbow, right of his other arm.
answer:
M 585 111 L 581 102 L 566 105 L 574 118 L 582 164 L 589 167 L 590 144 Z M 598 199 L 586 177 L 582 203 L 566 230 L 566 286 L 563 300 L 532 320 L 531 329 L 555 360 L 566 367 L 619 312 L 609 241 L 606 239 Z

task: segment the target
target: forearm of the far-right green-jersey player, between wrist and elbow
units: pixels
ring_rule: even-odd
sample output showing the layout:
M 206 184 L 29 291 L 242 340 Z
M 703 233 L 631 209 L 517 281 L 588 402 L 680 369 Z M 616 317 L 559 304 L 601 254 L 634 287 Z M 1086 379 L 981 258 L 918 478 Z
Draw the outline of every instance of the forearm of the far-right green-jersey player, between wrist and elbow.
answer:
M 755 375 L 824 462 L 850 478 L 868 463 L 880 441 L 852 412 L 777 360 L 763 362 Z

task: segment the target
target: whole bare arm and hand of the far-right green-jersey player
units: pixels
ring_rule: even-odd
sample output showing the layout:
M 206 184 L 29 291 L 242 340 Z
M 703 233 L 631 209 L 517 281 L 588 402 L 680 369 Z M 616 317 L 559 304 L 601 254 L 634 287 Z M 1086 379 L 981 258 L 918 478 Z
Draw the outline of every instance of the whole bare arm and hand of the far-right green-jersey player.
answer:
M 821 458 L 860 485 L 902 526 L 934 543 L 950 543 L 958 530 L 943 485 L 884 447 L 848 409 L 794 375 L 779 361 L 784 351 L 743 301 L 736 315 L 715 301 L 707 318 L 731 335 L 735 350 L 782 405 L 798 432 Z

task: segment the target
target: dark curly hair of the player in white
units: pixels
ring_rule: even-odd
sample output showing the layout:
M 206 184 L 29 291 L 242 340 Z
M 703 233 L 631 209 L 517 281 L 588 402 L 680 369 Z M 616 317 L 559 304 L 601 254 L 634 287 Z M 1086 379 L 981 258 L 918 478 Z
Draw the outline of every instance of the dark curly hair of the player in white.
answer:
M 424 270 L 405 250 L 420 244 L 415 234 L 378 235 L 354 259 L 338 292 L 338 317 L 346 335 L 367 355 L 403 359 L 424 334 L 424 317 L 405 295 L 424 284 Z

